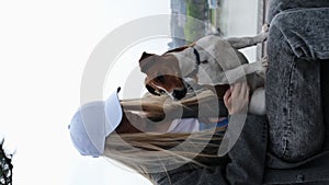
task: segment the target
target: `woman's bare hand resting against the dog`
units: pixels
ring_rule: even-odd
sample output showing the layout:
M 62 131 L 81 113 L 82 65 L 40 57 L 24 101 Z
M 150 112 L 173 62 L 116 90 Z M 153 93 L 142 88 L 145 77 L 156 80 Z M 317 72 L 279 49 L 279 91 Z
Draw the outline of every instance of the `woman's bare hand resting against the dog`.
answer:
M 224 103 L 229 115 L 247 113 L 249 104 L 249 85 L 247 82 L 232 84 L 224 95 Z

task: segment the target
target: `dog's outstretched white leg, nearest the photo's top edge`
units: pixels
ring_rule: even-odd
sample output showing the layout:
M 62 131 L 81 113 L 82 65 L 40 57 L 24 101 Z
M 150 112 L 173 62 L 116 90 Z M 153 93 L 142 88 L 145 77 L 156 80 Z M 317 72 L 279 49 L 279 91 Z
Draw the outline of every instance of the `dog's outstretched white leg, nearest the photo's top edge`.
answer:
M 265 24 L 262 27 L 262 32 L 253 37 L 231 37 L 227 38 L 227 42 L 231 45 L 235 49 L 241 49 L 250 46 L 254 46 L 258 43 L 263 43 L 266 41 L 269 35 L 269 25 Z

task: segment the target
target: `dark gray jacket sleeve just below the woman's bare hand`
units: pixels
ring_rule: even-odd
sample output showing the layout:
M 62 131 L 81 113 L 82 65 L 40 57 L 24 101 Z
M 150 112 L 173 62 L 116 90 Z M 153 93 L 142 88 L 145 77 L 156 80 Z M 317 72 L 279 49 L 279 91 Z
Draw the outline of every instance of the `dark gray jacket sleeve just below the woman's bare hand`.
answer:
M 226 166 L 229 184 L 262 184 L 268 146 L 268 119 L 248 115 L 239 139 L 228 152 L 231 162 Z

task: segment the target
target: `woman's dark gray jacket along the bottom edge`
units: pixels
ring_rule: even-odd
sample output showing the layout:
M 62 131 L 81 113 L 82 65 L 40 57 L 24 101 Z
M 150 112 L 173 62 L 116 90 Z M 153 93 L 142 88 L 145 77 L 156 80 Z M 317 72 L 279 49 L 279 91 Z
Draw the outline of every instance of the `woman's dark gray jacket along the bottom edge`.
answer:
M 266 152 L 268 120 L 249 115 L 240 138 L 223 158 L 188 163 L 167 173 L 150 174 L 158 185 L 329 184 L 329 143 L 319 154 L 298 163 L 284 162 Z

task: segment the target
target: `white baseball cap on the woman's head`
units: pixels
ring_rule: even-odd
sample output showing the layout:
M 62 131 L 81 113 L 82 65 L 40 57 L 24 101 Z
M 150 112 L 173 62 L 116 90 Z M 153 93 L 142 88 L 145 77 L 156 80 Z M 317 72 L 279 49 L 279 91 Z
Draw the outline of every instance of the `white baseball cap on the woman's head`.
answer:
M 105 138 L 120 125 L 123 111 L 113 92 L 104 101 L 87 103 L 73 115 L 69 125 L 71 140 L 82 155 L 100 157 L 104 152 Z

